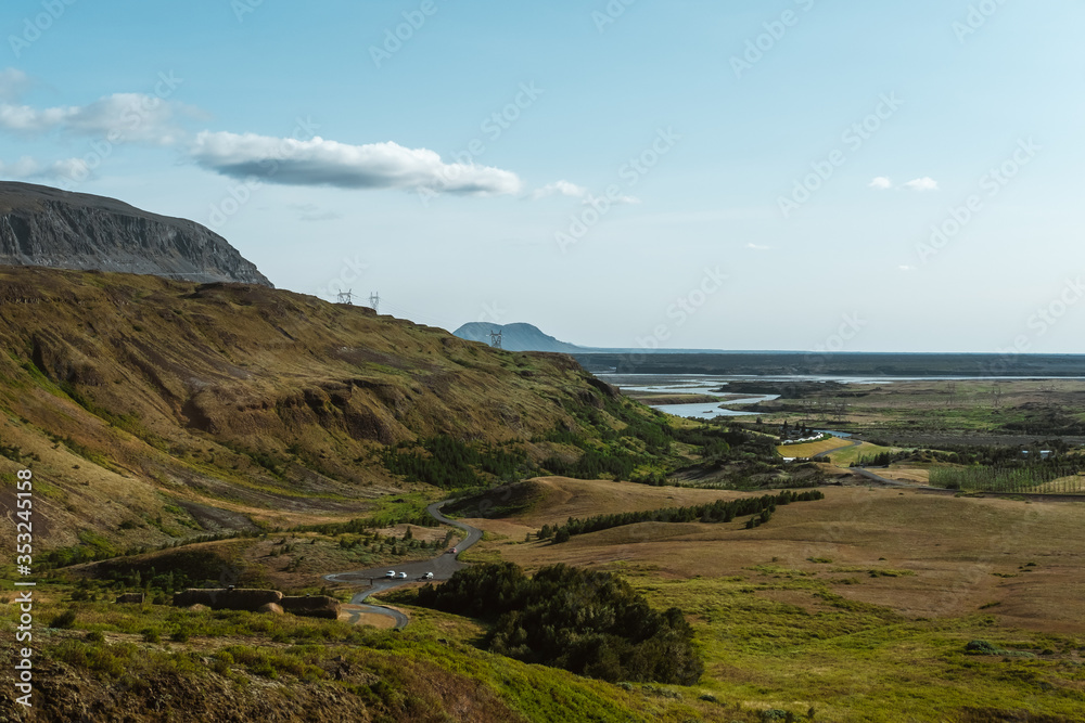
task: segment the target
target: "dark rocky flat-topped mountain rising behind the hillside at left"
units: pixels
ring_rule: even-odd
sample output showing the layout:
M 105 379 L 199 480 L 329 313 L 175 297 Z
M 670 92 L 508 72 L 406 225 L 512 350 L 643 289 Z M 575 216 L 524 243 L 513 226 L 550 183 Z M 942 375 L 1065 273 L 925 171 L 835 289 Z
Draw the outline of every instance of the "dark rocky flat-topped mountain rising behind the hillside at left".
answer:
M 271 286 L 209 229 L 115 198 L 0 182 L 0 264 Z

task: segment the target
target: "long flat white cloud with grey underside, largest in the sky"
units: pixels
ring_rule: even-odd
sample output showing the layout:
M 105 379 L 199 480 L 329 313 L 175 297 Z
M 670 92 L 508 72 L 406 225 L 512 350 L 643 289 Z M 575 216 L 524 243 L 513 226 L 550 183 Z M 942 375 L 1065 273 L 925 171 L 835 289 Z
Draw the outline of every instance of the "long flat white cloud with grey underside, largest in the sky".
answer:
M 255 177 L 284 185 L 341 189 L 408 189 L 476 195 L 515 195 L 520 178 L 474 164 L 446 164 L 426 149 L 398 143 L 349 145 L 314 138 L 299 141 L 255 133 L 204 131 L 191 147 L 195 163 L 232 178 Z

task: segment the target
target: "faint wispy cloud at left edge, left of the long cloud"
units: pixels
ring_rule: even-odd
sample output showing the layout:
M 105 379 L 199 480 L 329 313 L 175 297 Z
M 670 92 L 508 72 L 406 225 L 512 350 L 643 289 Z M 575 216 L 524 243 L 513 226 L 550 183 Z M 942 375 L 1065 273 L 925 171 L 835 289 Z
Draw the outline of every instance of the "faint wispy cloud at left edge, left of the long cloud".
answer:
M 60 130 L 114 143 L 173 145 L 186 134 L 178 119 L 200 116 L 191 106 L 144 93 L 114 93 L 87 105 L 54 108 L 0 103 L 0 129 L 27 135 Z

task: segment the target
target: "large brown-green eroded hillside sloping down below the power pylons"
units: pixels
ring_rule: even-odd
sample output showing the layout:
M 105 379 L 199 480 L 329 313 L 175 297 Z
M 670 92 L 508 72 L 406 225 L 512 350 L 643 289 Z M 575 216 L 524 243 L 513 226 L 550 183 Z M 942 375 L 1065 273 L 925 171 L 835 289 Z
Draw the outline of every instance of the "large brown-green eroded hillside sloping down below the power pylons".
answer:
M 621 431 L 652 413 L 567 357 L 260 286 L 3 269 L 0 343 L 0 504 L 33 467 L 36 547 L 76 558 L 356 517 L 586 450 L 667 465 Z

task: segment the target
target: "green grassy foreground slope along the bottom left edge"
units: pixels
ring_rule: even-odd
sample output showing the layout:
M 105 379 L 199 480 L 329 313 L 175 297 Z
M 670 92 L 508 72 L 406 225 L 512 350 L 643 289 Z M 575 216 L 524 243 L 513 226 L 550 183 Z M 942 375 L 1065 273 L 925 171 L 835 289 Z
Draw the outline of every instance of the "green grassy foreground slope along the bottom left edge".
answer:
M 3 606 L 3 721 L 681 723 L 722 710 L 669 687 L 626 689 L 477 650 L 476 627 L 435 611 L 393 633 L 289 615 L 73 602 L 52 585 L 37 594 L 42 621 L 68 610 L 74 620 L 36 632 L 37 708 L 9 718 L 18 709 L 18 611 Z

